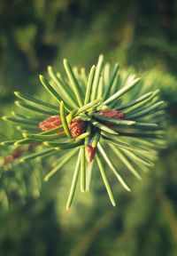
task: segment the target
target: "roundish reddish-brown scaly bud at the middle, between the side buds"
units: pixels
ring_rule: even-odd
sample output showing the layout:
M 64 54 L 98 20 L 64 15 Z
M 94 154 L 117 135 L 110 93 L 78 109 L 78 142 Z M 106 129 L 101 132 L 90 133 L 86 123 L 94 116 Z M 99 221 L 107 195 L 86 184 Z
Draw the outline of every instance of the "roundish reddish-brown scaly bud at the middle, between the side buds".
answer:
M 73 119 L 70 124 L 70 132 L 73 138 L 77 138 L 86 132 L 86 122 L 77 118 Z

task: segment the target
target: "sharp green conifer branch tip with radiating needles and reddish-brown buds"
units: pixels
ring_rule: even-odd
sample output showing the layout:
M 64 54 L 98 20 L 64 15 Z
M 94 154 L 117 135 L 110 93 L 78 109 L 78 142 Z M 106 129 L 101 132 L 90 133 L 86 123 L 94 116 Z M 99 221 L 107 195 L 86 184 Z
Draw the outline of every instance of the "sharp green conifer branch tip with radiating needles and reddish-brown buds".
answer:
M 103 55 L 99 56 L 96 66 L 90 68 L 89 75 L 85 68 L 81 68 L 81 73 L 77 67 L 72 68 L 68 60 L 64 60 L 67 77 L 48 67 L 50 79 L 40 76 L 40 80 L 57 104 L 14 92 L 20 100 L 15 102 L 19 113 L 12 112 L 12 116 L 3 117 L 5 121 L 17 125 L 23 138 L 3 141 L 2 146 L 32 145 L 34 142 L 41 145 L 40 149 L 35 147 L 32 154 L 24 152 L 19 162 L 35 161 L 33 159 L 36 157 L 58 158 L 56 166 L 44 180 L 49 180 L 79 151 L 73 168 L 67 209 L 73 202 L 79 173 L 81 192 L 85 192 L 89 190 L 92 169 L 96 166 L 112 205 L 116 203 L 105 174 L 105 164 L 120 184 L 127 191 L 131 190 L 107 150 L 115 154 L 140 180 L 139 171 L 146 171 L 153 166 L 156 149 L 164 147 L 163 133 L 160 132 L 164 101 L 158 100 L 159 91 L 143 92 L 140 95 L 139 92 L 145 91 L 140 90 L 143 89 L 143 81 L 139 83 L 140 78 L 121 74 L 118 63 L 112 70 L 110 67 L 109 63 L 104 65 Z M 25 115 L 21 115 L 20 111 Z

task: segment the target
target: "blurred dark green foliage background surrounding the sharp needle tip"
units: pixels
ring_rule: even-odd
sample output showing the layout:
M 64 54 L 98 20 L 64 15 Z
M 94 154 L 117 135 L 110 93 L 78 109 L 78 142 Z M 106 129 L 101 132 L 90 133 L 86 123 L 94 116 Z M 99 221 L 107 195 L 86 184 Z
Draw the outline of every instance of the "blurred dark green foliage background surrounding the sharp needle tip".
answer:
M 66 57 L 89 69 L 104 53 L 155 81 L 167 101 L 168 144 L 142 181 L 129 180 L 131 194 L 113 183 L 116 208 L 96 176 L 92 193 L 78 193 L 65 212 L 71 164 L 47 184 L 41 182 L 50 168 L 45 160 L 6 168 L 0 179 L 0 256 L 177 255 L 176 12 L 176 0 L 0 1 L 0 116 L 14 108 L 13 91 L 44 94 L 38 74 L 47 65 L 63 69 Z M 14 133 L 0 121 L 0 140 Z M 0 166 L 11 150 L 0 148 Z

